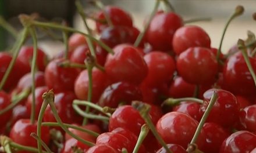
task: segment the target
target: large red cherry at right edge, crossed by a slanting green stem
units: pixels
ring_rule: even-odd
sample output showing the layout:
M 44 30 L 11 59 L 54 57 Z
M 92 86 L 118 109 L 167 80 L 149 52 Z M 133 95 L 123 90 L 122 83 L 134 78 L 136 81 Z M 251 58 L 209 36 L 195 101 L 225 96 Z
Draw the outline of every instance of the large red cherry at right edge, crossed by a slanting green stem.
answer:
M 256 59 L 249 57 L 256 71 Z M 241 96 L 255 96 L 256 87 L 243 55 L 239 52 L 227 59 L 223 68 L 223 88 Z

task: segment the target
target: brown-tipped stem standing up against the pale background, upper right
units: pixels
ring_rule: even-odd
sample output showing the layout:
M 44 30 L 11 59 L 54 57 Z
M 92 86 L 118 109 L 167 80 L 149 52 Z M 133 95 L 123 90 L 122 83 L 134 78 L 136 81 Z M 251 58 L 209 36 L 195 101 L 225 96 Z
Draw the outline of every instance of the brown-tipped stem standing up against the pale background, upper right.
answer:
M 225 28 L 224 28 L 224 31 L 222 33 L 222 37 L 221 37 L 221 43 L 219 43 L 219 48 L 218 48 L 218 52 L 216 54 L 216 60 L 219 62 L 219 56 L 221 56 L 221 48 L 222 48 L 222 43 L 223 43 L 223 39 L 224 39 L 224 36 L 226 34 L 226 31 L 227 31 L 227 27 L 229 26 L 229 24 L 231 23 L 231 21 L 240 16 L 241 14 L 243 14 L 244 12 L 244 7 L 241 6 L 241 5 L 238 5 L 236 6 L 236 9 L 234 11 L 234 13 L 232 14 L 232 16 L 230 16 L 229 20 L 227 21 L 226 25 L 225 25 Z

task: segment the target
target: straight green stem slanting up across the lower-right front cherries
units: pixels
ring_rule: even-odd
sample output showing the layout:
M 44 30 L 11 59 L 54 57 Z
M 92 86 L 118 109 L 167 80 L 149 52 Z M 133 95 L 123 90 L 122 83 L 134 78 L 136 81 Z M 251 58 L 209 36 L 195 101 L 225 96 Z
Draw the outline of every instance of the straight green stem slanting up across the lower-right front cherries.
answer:
M 206 110 L 204 112 L 204 115 L 202 115 L 202 118 L 201 118 L 201 120 L 200 120 L 200 122 L 199 122 L 199 124 L 197 126 L 197 130 L 195 130 L 195 134 L 194 134 L 193 139 L 191 140 L 190 144 L 196 144 L 197 143 L 197 138 L 198 138 L 198 136 L 201 133 L 202 126 L 204 126 L 204 123 L 205 123 L 206 119 L 208 118 L 209 113 L 211 112 L 212 107 L 214 106 L 215 101 L 216 101 L 217 98 L 218 98 L 218 94 L 216 92 L 214 92 L 212 94 L 212 97 L 211 97 L 211 100 L 209 102 L 209 105 L 206 108 Z

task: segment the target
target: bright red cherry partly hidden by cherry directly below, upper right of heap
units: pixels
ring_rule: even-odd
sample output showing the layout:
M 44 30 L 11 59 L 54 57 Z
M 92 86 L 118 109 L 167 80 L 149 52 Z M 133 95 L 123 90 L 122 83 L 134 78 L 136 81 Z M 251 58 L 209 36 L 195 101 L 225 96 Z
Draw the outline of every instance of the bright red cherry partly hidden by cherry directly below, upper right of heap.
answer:
M 201 27 L 186 25 L 176 30 L 172 46 L 173 51 L 180 54 L 191 47 L 211 48 L 211 39 Z

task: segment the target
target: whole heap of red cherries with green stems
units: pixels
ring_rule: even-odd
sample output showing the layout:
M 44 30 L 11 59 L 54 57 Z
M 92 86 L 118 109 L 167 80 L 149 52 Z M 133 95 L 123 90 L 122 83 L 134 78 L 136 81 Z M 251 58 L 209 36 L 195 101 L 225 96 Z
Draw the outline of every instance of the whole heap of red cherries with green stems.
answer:
M 0 52 L 0 152 L 256 152 L 252 33 L 222 54 L 175 12 L 155 9 L 142 32 L 116 6 L 93 20 L 97 41 L 37 49 L 34 74 L 33 46 Z

